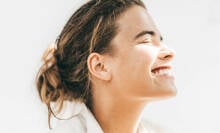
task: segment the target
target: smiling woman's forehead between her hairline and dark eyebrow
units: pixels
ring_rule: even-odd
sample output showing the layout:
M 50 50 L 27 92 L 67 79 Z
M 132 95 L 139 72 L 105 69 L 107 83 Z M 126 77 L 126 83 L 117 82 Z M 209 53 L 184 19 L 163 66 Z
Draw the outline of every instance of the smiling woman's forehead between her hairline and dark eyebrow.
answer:
M 133 39 L 133 37 L 143 31 L 154 31 L 159 34 L 151 16 L 141 6 L 132 6 L 117 19 L 118 34 L 116 37 L 126 37 Z

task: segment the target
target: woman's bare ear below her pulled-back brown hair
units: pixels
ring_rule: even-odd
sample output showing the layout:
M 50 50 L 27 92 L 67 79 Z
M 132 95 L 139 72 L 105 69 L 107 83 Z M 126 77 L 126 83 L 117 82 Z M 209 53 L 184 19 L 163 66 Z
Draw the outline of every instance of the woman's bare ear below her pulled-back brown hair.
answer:
M 103 55 L 91 53 L 87 58 L 87 66 L 91 76 L 94 76 L 100 80 L 111 80 L 110 69 Z

